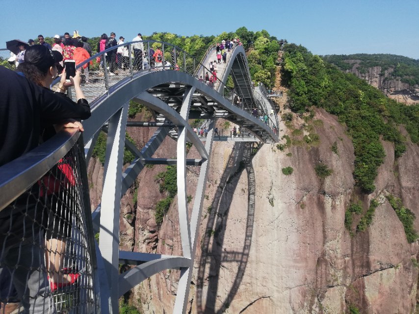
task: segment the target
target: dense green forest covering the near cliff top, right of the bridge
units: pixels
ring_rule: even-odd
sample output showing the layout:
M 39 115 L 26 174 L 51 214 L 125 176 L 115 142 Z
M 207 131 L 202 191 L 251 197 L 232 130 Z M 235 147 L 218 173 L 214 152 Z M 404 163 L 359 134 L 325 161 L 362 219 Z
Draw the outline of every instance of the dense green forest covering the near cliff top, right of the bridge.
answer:
M 289 107 L 304 113 L 314 105 L 339 117 L 354 144 L 355 181 L 364 192 L 372 192 L 377 168 L 385 157 L 380 138 L 394 143 L 395 158 L 406 150 L 399 124 L 405 126 L 411 141 L 418 143 L 419 106 L 398 104 L 302 46 L 289 44 L 284 51 L 282 78 L 289 88 Z

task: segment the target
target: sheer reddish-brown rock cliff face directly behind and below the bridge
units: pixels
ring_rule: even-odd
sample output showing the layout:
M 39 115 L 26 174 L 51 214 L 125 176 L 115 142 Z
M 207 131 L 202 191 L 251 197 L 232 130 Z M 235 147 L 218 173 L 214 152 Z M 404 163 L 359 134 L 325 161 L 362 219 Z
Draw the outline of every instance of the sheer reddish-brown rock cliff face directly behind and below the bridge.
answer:
M 353 146 L 344 128 L 321 109 L 314 119 L 323 123 L 314 126 L 320 141 L 312 147 L 298 144 L 281 152 L 270 144 L 214 143 L 187 313 L 415 311 L 418 243 L 408 244 L 384 196 L 400 197 L 419 216 L 418 145 L 408 142 L 395 161 L 393 145 L 383 142 L 387 156 L 376 190 L 363 195 L 354 188 Z M 302 121 L 293 123 L 298 128 Z M 141 147 L 152 130 L 129 133 Z M 335 142 L 338 154 L 331 150 Z M 175 149 L 166 139 L 155 157 L 174 155 Z M 193 148 L 188 157 L 197 157 Z M 333 170 L 325 179 L 314 171 L 319 162 Z M 281 171 L 287 166 L 293 168 L 288 176 Z M 99 168 L 91 163 L 92 177 L 100 177 Z M 163 197 L 154 179 L 160 171 L 163 166 L 141 172 L 135 208 L 130 195 L 124 196 L 121 246 L 181 255 L 176 199 L 161 227 L 155 222 L 154 207 Z M 188 167 L 188 195 L 194 195 L 197 176 L 198 169 Z M 361 201 L 365 212 L 371 199 L 379 202 L 372 224 L 350 235 L 344 226 L 349 203 Z M 172 313 L 178 279 L 177 270 L 161 272 L 134 288 L 130 298 L 144 313 Z

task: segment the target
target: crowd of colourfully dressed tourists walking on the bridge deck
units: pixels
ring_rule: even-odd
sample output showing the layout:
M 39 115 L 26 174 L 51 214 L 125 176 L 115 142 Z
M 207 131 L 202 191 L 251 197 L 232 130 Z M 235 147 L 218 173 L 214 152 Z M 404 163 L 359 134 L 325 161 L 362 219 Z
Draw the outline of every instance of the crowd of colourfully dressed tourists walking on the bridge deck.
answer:
M 73 36 L 66 32 L 64 35 L 55 35 L 53 37 L 53 43 L 50 45 L 45 41 L 43 35 L 38 35 L 38 41 L 35 42 L 33 39 L 29 39 L 27 42 L 21 40 L 13 40 L 7 42 L 7 48 L 10 50 L 10 63 L 15 63 L 16 68 L 23 62 L 25 62 L 26 49 L 33 45 L 42 45 L 49 48 L 52 51 L 60 52 L 63 56 L 63 61 L 73 59 L 76 61 L 76 65 L 86 61 L 95 52 L 103 52 L 101 56 L 96 58 L 96 62 L 100 64 L 101 68 L 106 67 L 109 76 L 115 76 L 118 74 L 118 70 L 129 70 L 130 67 L 130 55 L 132 56 L 133 69 L 139 71 L 143 69 L 155 69 L 155 68 L 167 68 L 179 70 L 177 59 L 179 52 L 172 50 L 170 52 L 171 58 L 165 60 L 162 47 L 151 47 L 149 51 L 144 49 L 143 39 L 141 33 L 137 33 L 137 36 L 132 38 L 133 44 L 124 45 L 124 36 L 119 36 L 119 40 L 116 39 L 116 34 L 111 32 L 108 36 L 103 33 L 100 36 L 100 40 L 97 47 L 92 48 L 88 43 L 88 38 L 81 36 L 78 30 L 75 30 Z M 236 45 L 241 45 L 239 38 L 234 39 L 223 39 L 221 42 L 216 43 L 216 59 L 211 61 L 209 64 L 209 72 L 206 72 L 205 78 L 202 76 L 199 78 L 200 81 L 205 82 L 211 87 L 214 86 L 217 80 L 218 67 L 217 64 L 221 62 L 227 62 L 227 54 L 231 52 Z M 117 49 L 111 49 L 112 47 L 119 46 Z M 95 49 L 95 51 L 93 51 Z M 131 50 L 131 51 L 130 51 Z M 58 72 L 62 71 L 64 62 L 61 61 L 58 67 Z M 171 62 L 170 62 L 171 61 Z M 89 79 L 89 69 L 93 64 L 92 60 L 85 63 L 82 66 L 82 73 L 84 74 L 85 82 Z

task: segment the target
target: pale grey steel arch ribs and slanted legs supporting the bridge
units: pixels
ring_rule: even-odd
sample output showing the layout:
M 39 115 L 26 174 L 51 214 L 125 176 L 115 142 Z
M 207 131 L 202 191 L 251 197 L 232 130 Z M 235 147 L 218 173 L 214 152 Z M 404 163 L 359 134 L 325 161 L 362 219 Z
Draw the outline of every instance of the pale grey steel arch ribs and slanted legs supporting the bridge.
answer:
M 186 59 L 185 56 L 183 59 Z M 204 66 L 201 68 L 205 71 Z M 173 313 L 185 313 L 213 143 L 213 127 L 218 117 L 231 121 L 245 121 L 246 128 L 251 130 L 262 142 L 278 141 L 277 134 L 269 125 L 232 103 L 233 95 L 230 95 L 231 99 L 229 99 L 230 96 L 224 97 L 223 83 L 227 80 L 229 73 L 234 72 L 235 69 L 242 75 L 242 80 L 235 80 L 237 92 L 242 98 L 254 102 L 249 85 L 250 75 L 245 52 L 242 47 L 237 47 L 232 52 L 227 71 L 217 86 L 217 90 L 222 94 L 186 71 L 142 71 L 133 73 L 131 77 L 123 78 L 110 87 L 108 83 L 105 83 L 104 93 L 91 103 L 92 117 L 83 123 L 87 157 L 91 155 L 97 134 L 103 130 L 104 126 L 107 127 L 108 134 L 102 202 L 95 209 L 92 217 L 94 229 L 100 231 L 97 257 L 100 272 L 101 306 L 105 313 L 117 313 L 120 296 L 142 280 L 169 268 L 181 269 Z M 106 70 L 105 78 L 107 78 Z M 168 104 L 162 100 L 161 95 L 164 93 L 161 91 L 170 89 L 176 89 L 177 95 L 182 96 L 181 104 Z M 157 160 L 152 158 L 154 152 L 169 134 L 167 127 L 160 127 L 141 151 L 125 140 L 129 102 L 132 99 L 146 105 L 156 114 L 164 116 L 165 123 L 171 123 L 177 129 L 176 159 Z M 205 144 L 188 124 L 193 104 L 198 104 L 201 116 L 210 121 Z M 194 117 L 196 112 L 195 110 Z M 186 159 L 186 141 L 196 147 L 200 159 Z M 124 147 L 130 149 L 135 158 L 123 172 Z M 120 199 L 146 163 L 177 165 L 178 214 L 183 256 L 162 256 L 119 250 Z M 186 165 L 188 164 L 200 165 L 190 216 L 186 201 Z M 129 263 L 135 267 L 119 275 L 118 264 L 120 262 Z

